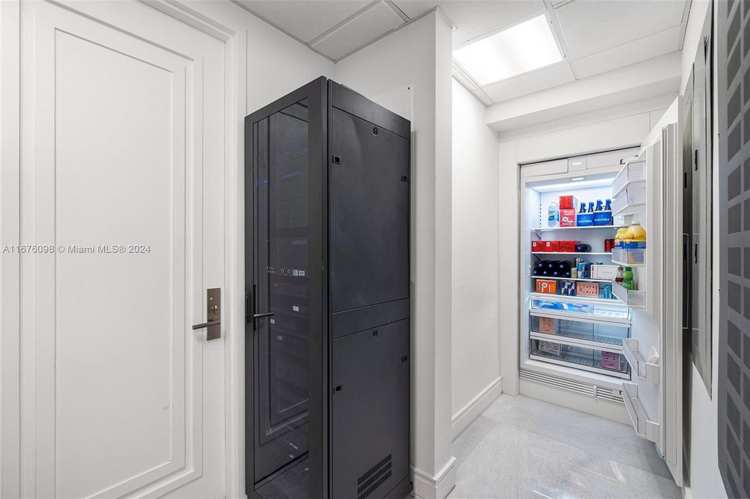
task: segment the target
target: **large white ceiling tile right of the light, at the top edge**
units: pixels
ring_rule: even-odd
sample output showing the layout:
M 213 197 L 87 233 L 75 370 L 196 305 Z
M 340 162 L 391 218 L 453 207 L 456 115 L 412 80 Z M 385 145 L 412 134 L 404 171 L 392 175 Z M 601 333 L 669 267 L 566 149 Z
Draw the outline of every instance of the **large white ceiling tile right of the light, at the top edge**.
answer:
M 575 0 L 555 12 L 575 59 L 673 28 L 684 9 L 685 0 Z

